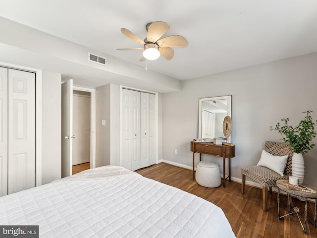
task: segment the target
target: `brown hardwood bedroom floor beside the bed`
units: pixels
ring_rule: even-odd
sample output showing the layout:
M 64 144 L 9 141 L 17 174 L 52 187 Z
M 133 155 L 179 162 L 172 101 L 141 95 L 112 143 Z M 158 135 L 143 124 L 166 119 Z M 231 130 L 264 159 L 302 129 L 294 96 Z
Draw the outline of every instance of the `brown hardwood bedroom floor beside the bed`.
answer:
M 268 196 L 268 211 L 262 210 L 262 189 L 246 186 L 241 193 L 241 183 L 226 182 L 226 187 L 207 188 L 193 179 L 192 171 L 165 163 L 136 171 L 142 176 L 177 187 L 202 197 L 219 206 L 226 215 L 237 238 L 317 238 L 317 228 L 307 224 L 307 235 L 302 232 L 296 216 L 277 220 L 277 194 Z M 294 206 L 304 215 L 304 202 L 293 199 Z M 314 204 L 308 206 L 308 218 L 313 220 Z M 280 196 L 281 215 L 287 213 L 287 197 Z

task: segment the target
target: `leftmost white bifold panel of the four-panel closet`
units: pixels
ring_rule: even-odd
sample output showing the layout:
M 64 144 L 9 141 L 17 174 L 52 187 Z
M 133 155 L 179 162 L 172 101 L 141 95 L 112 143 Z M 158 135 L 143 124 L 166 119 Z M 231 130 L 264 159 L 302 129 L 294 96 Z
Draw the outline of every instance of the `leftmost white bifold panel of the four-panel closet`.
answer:
M 121 166 L 132 171 L 132 91 L 122 90 Z

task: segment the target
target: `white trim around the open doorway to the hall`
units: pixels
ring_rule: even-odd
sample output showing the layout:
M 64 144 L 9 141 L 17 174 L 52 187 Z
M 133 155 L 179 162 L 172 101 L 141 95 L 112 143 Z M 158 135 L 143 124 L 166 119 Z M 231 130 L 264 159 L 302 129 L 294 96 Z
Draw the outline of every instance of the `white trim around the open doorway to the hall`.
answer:
M 90 168 L 96 168 L 96 89 L 73 86 L 73 90 L 90 92 Z

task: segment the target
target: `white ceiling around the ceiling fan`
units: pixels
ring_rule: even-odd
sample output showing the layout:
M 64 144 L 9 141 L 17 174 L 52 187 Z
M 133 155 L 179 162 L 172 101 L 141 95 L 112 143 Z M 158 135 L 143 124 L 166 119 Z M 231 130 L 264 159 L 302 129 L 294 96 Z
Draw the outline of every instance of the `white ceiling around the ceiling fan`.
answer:
M 0 16 L 142 67 L 120 28 L 167 22 L 189 46 L 148 67 L 179 80 L 317 52 L 317 0 L 0 0 Z

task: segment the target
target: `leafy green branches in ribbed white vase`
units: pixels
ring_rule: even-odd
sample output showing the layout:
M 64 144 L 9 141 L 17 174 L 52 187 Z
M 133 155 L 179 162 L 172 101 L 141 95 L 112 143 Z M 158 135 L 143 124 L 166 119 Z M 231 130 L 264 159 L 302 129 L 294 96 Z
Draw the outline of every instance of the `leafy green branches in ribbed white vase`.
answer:
M 316 130 L 314 126 L 317 124 L 313 121 L 312 111 L 303 112 L 306 117 L 302 119 L 297 126 L 289 125 L 289 119 L 281 119 L 283 123 L 277 123 L 275 127 L 270 126 L 271 131 L 275 130 L 282 135 L 282 140 L 294 148 L 292 158 L 292 176 L 299 180 L 299 184 L 304 180 L 304 157 L 303 155 L 311 150 L 315 144 L 313 139 L 316 137 Z

